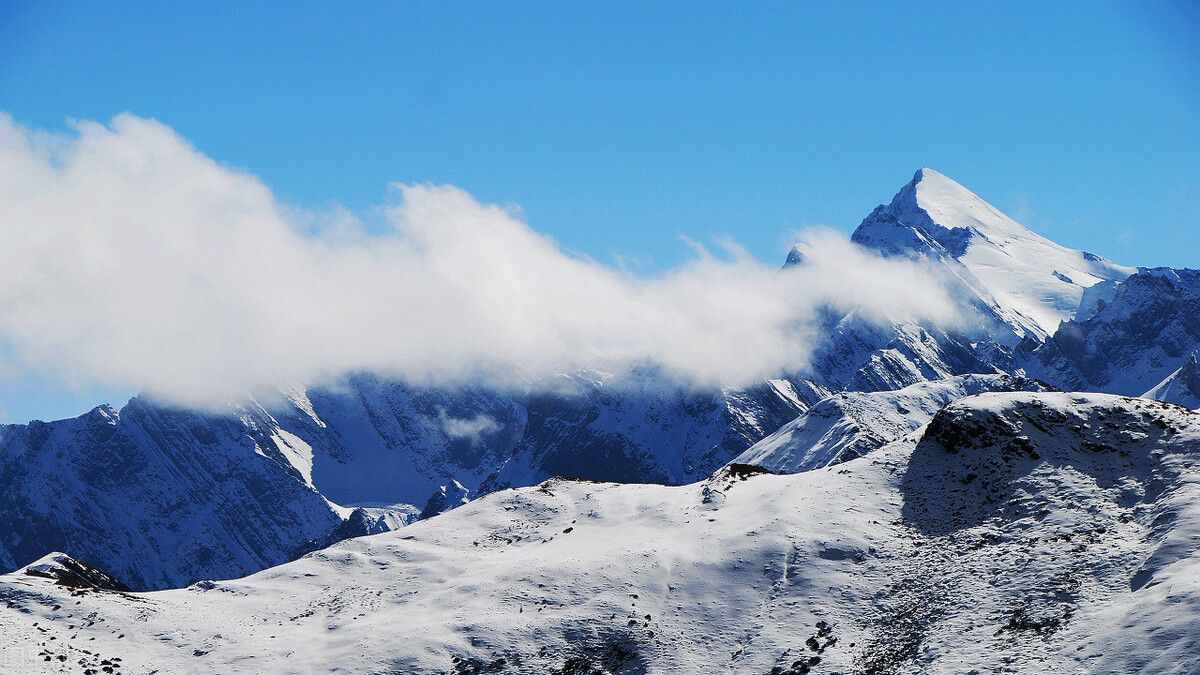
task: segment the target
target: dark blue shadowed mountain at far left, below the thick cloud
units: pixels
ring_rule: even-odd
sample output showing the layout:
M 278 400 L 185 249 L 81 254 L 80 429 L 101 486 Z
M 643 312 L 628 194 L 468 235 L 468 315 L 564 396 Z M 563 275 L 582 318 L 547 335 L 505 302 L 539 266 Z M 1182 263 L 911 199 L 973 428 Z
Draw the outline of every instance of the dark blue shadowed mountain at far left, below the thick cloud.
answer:
M 0 426 L 0 568 L 66 550 L 161 589 L 293 560 L 350 515 L 290 464 L 304 448 L 262 410 L 214 417 L 140 399 Z

